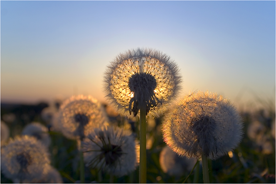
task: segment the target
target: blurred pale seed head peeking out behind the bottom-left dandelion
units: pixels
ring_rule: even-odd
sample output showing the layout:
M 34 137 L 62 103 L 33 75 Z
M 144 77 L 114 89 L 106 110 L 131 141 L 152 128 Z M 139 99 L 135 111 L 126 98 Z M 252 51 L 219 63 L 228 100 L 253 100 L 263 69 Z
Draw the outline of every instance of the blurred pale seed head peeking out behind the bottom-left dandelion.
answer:
M 46 147 L 51 144 L 51 138 L 48 133 L 48 128 L 39 122 L 32 122 L 25 126 L 22 130 L 22 135 L 29 135 L 41 141 Z

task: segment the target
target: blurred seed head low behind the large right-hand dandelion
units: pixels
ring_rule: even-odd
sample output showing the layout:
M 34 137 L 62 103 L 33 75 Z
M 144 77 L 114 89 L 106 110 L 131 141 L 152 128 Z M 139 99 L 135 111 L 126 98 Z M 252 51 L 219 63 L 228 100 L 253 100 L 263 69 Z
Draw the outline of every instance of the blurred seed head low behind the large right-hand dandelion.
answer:
M 180 157 L 171 148 L 165 146 L 160 152 L 159 163 L 161 169 L 172 176 L 182 176 L 185 172 L 190 172 L 197 159 Z

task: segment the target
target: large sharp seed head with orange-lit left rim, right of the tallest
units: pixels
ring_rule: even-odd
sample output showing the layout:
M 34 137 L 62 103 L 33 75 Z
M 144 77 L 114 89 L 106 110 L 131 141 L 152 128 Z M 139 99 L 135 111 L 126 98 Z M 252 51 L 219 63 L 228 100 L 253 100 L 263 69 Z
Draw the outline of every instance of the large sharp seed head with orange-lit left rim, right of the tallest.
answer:
M 171 106 L 164 141 L 179 155 L 217 159 L 240 143 L 243 124 L 233 104 L 217 93 L 197 92 Z

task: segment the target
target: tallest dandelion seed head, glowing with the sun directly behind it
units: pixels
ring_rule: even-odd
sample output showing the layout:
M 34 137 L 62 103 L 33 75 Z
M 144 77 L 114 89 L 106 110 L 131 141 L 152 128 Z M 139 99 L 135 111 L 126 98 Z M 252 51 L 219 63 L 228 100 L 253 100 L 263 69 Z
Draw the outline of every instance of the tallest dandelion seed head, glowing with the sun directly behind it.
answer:
M 146 104 L 146 113 L 157 116 L 180 89 L 176 64 L 160 51 L 128 50 L 119 54 L 105 72 L 104 91 L 121 115 L 135 117 Z

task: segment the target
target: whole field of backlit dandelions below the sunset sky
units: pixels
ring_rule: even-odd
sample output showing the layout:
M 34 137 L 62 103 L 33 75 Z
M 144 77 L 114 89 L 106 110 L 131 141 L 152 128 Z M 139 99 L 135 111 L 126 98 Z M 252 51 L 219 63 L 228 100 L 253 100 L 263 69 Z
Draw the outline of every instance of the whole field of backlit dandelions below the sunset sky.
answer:
M 176 100 L 181 81 L 169 56 L 138 48 L 107 67 L 107 105 L 1 104 L 1 182 L 274 183 L 275 105 L 242 112 L 208 91 Z

